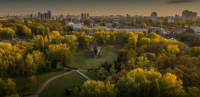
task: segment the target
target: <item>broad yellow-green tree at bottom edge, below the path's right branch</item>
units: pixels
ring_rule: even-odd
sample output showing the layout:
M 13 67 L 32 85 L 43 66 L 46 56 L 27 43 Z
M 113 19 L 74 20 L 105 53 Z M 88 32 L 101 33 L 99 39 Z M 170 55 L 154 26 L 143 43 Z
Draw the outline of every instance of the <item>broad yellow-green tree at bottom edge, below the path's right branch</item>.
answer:
M 117 90 L 115 85 L 103 81 L 86 81 L 81 86 L 82 97 L 115 97 Z

